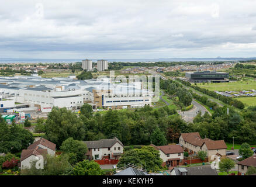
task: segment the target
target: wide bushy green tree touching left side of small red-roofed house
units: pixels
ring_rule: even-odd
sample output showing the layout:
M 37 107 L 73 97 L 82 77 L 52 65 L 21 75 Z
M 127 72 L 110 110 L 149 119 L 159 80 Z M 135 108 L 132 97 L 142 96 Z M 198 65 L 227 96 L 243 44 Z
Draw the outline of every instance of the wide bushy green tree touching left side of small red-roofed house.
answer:
M 120 158 L 117 167 L 124 167 L 127 164 L 134 164 L 143 167 L 147 171 L 160 171 L 162 159 L 160 153 L 151 146 L 143 146 L 125 151 Z

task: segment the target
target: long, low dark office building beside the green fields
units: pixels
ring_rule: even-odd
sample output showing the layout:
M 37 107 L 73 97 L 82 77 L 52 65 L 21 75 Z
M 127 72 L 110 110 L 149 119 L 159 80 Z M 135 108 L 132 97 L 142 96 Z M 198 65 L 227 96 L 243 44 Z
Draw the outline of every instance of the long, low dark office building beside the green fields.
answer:
M 193 82 L 229 82 L 229 73 L 216 71 L 186 72 L 186 78 Z

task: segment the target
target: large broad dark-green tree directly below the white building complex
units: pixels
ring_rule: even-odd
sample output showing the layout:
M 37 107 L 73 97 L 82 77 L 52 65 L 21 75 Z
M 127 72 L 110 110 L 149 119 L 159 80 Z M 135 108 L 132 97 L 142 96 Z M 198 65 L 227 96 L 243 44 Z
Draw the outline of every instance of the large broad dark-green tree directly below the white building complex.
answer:
M 47 140 L 55 143 L 57 147 L 69 137 L 84 140 L 86 134 L 82 120 L 74 112 L 56 107 L 53 107 L 48 115 L 45 131 Z

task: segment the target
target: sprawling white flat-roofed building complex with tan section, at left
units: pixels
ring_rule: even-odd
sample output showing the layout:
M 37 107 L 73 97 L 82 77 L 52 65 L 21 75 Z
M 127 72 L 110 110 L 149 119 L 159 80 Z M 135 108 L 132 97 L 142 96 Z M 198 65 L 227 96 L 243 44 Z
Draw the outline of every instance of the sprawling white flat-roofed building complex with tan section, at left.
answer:
M 29 103 L 39 110 L 53 106 L 76 110 L 84 103 L 97 108 L 140 108 L 151 105 L 153 92 L 140 89 L 141 83 L 115 84 L 109 79 L 77 80 L 73 78 L 41 78 L 39 76 L 1 77 L 3 98 L 14 103 Z M 1 101 L 0 101 L 1 102 Z

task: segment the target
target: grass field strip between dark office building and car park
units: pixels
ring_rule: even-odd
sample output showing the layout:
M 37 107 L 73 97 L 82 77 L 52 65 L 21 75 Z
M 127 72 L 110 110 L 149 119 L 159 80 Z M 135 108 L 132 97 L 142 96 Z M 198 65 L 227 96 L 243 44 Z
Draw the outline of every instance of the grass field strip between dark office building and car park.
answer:
M 256 89 L 256 81 L 236 81 L 223 83 L 197 84 L 201 88 L 209 89 L 210 91 L 243 91 Z

